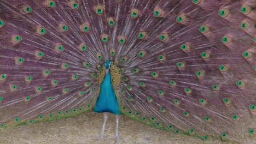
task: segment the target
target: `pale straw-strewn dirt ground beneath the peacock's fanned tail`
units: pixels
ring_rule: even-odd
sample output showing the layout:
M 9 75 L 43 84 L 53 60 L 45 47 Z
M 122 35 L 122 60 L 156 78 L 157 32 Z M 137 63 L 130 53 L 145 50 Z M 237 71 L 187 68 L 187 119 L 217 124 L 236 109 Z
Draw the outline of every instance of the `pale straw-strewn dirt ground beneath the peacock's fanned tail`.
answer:
M 114 140 L 114 115 L 109 115 L 105 138 L 100 140 L 97 135 L 100 134 L 102 124 L 102 113 L 83 113 L 59 121 L 20 125 L 2 130 L 0 143 L 222 143 L 204 142 L 191 136 L 154 129 L 125 116 L 120 117 L 120 140 Z

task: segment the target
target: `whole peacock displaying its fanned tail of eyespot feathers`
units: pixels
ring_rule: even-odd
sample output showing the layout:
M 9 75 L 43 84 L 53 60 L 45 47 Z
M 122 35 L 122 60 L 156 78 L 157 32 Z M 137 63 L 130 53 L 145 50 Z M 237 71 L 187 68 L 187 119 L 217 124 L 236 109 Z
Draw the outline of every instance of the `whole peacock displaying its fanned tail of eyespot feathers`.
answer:
M 0 129 L 94 111 L 256 141 L 255 0 L 0 0 Z

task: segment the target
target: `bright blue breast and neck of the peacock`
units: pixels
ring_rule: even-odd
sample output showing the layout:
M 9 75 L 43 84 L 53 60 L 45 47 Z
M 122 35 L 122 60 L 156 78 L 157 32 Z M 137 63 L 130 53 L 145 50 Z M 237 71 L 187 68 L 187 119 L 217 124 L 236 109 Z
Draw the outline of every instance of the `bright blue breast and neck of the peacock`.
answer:
M 111 83 L 110 71 L 105 75 L 101 84 L 101 91 L 98 95 L 96 105 L 94 107 L 95 112 L 111 112 L 116 115 L 120 115 L 119 104 L 117 96 Z

